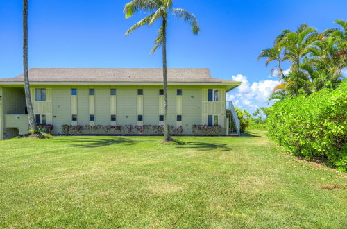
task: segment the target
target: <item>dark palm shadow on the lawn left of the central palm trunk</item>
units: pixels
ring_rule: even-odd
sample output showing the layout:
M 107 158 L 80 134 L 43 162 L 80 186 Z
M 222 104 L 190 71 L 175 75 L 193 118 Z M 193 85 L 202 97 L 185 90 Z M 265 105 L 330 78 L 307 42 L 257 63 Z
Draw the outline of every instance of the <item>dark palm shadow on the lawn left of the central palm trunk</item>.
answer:
M 132 146 L 137 144 L 133 139 L 126 137 L 103 138 L 103 137 L 78 137 L 71 140 L 58 140 L 59 143 L 67 143 L 67 147 L 99 148 L 115 144 Z

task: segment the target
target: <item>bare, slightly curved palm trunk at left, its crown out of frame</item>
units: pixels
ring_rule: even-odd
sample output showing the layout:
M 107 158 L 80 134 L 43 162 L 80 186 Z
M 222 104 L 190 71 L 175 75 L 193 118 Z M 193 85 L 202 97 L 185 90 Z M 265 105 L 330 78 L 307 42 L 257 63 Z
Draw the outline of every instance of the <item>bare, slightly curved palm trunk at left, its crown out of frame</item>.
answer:
M 31 103 L 29 76 L 28 76 L 28 0 L 23 0 L 23 67 L 24 67 L 24 92 L 28 110 L 29 126 L 35 133 L 39 132 L 35 121 L 33 103 Z

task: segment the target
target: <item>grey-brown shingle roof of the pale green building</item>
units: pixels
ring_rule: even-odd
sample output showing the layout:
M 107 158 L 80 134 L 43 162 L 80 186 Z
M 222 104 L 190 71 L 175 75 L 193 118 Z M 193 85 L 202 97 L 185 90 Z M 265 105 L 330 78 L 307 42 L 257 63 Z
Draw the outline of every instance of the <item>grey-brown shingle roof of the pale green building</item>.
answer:
M 34 68 L 29 69 L 31 82 L 158 83 L 162 69 Z M 209 69 L 168 69 L 169 83 L 234 83 L 212 78 Z M 23 74 L 3 78 L 1 82 L 21 82 Z M 237 83 L 237 82 L 235 82 Z

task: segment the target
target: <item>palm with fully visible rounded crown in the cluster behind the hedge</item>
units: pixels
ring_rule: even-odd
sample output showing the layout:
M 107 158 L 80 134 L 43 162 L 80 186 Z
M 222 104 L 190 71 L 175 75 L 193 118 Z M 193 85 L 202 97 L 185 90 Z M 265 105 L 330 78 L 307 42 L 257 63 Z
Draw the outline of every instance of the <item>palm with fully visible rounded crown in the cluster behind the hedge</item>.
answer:
M 298 96 L 298 87 L 301 80 L 305 81 L 300 65 L 302 59 L 310 53 L 310 46 L 318 39 L 316 29 L 310 28 L 307 24 L 299 26 L 295 32 L 285 30 L 277 37 L 277 41 L 285 49 L 283 61 L 291 62 L 291 76 L 295 82 L 295 95 Z

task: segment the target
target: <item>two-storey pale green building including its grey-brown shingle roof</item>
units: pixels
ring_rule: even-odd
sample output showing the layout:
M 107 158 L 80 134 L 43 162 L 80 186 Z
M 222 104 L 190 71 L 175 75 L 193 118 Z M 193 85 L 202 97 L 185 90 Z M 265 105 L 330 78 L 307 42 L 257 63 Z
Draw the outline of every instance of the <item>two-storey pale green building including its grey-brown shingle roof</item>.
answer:
M 29 79 L 37 124 L 53 125 L 53 134 L 162 131 L 162 69 L 30 69 Z M 235 112 L 226 118 L 226 92 L 239 82 L 208 69 L 168 69 L 167 81 L 171 132 L 229 135 L 237 126 Z M 0 139 L 28 133 L 23 75 L 0 79 L 0 130 Z

